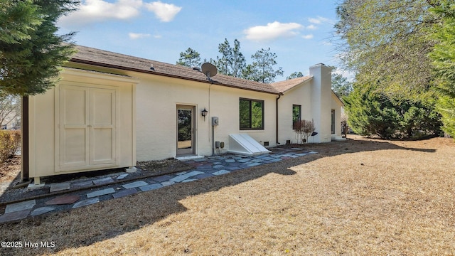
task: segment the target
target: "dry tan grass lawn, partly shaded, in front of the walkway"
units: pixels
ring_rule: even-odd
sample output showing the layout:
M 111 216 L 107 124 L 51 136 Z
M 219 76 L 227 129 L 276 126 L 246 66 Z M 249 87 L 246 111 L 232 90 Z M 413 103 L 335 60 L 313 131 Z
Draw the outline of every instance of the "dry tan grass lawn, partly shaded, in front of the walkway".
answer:
M 351 137 L 352 138 L 352 137 Z M 455 255 L 455 144 L 319 154 L 0 226 L 0 255 Z

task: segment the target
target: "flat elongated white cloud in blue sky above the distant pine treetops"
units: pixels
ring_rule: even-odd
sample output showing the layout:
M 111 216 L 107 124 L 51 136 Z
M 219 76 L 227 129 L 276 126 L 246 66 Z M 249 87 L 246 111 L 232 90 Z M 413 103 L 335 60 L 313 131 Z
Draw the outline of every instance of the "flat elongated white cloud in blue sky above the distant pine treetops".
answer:
M 299 23 L 267 23 L 267 26 L 254 26 L 245 29 L 243 33 L 246 38 L 252 41 L 269 41 L 281 37 L 292 37 L 299 34 L 296 30 L 301 29 Z

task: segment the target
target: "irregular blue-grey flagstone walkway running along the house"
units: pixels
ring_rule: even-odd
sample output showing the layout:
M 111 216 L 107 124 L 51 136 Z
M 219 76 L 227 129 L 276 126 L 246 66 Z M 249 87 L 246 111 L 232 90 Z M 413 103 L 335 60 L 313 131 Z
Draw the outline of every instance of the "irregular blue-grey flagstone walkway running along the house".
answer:
M 242 156 L 234 154 L 206 156 L 204 158 L 186 161 L 186 164 L 193 166 L 193 169 L 183 171 L 178 174 L 166 174 L 151 178 L 142 178 L 137 181 L 114 183 L 106 186 L 102 185 L 111 183 L 114 180 L 122 180 L 123 178 L 126 178 L 128 174 L 120 173 L 114 177 L 95 178 L 92 181 L 76 180 L 53 183 L 50 186 L 51 191 L 65 191 L 70 187 L 86 187 L 87 190 L 68 192 L 68 194 L 63 196 L 50 196 L 8 204 L 6 205 L 3 215 L 0 215 L 0 223 L 22 220 L 24 218 L 42 215 L 45 213 L 89 206 L 93 203 L 99 203 L 101 201 L 114 198 L 121 198 L 123 196 L 129 196 L 143 191 L 151 191 L 164 186 L 171 186 L 175 183 L 191 182 L 201 178 L 210 178 L 213 176 L 229 174 L 232 171 L 306 156 L 308 154 L 316 154 L 316 152 L 304 151 L 304 149 L 295 148 L 280 149 L 279 151 L 274 150 L 272 154 L 261 156 Z M 100 187 L 90 188 L 92 184 Z

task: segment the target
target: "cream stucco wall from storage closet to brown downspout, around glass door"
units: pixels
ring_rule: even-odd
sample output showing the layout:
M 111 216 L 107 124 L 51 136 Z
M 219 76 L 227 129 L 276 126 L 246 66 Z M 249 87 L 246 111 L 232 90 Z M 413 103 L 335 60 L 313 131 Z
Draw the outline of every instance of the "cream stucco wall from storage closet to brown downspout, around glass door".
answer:
M 195 71 L 196 72 L 196 71 Z M 229 149 L 229 134 L 247 133 L 257 142 L 274 146 L 276 95 L 240 90 L 210 83 L 193 82 L 158 75 L 134 74 L 137 85 L 137 160 L 149 161 L 176 156 L 176 106 L 188 105 L 196 109 L 196 154 L 212 154 L 211 117 L 218 117 L 214 128 L 215 141 L 225 142 Z M 239 100 L 241 97 L 264 100 L 264 130 L 241 131 Z M 200 114 L 208 110 L 204 118 Z

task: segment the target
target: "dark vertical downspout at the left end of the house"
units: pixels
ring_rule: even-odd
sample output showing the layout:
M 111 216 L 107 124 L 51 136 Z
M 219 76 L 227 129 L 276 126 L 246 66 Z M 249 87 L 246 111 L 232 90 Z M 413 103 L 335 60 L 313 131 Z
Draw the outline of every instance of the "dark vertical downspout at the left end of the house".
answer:
M 30 177 L 30 129 L 28 127 L 28 96 L 22 97 L 22 117 L 21 117 L 21 135 L 22 135 L 22 145 L 21 145 L 21 154 L 22 154 L 22 181 L 28 181 Z

